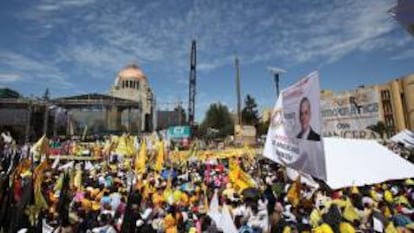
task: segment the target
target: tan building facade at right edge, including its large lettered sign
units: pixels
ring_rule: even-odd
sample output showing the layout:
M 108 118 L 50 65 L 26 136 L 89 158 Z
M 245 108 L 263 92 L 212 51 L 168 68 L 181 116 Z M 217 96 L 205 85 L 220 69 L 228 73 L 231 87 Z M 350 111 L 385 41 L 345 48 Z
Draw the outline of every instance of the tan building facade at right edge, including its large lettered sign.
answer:
M 321 109 L 327 137 L 378 138 L 369 129 L 378 122 L 384 122 L 386 137 L 414 130 L 414 74 L 342 93 L 323 90 Z

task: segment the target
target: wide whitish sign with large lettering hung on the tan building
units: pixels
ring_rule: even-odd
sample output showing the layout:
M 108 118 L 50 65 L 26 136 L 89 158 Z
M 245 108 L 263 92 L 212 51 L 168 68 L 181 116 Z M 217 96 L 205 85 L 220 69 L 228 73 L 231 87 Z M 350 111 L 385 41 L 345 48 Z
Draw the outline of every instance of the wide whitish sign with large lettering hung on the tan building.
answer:
M 374 87 L 323 96 L 323 136 L 378 138 L 379 135 L 367 127 L 380 121 L 379 101 L 379 94 Z

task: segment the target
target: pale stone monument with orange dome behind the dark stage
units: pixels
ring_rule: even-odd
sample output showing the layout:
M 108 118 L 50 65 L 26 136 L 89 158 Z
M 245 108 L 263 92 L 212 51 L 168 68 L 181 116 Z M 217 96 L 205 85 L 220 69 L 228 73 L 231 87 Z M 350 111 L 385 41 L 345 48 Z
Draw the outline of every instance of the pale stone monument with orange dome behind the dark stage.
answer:
M 152 131 L 154 129 L 155 98 L 148 79 L 140 67 L 128 65 L 121 70 L 111 87 L 110 95 L 138 102 L 141 111 L 140 119 L 138 119 L 140 130 Z M 126 115 L 121 118 L 128 119 Z

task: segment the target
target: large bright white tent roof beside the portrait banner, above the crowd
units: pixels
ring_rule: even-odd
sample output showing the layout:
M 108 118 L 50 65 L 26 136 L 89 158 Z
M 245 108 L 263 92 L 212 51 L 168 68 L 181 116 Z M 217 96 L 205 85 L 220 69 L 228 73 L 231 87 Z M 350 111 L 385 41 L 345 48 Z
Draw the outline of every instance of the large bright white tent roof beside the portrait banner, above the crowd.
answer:
M 324 138 L 332 189 L 414 177 L 414 164 L 374 140 Z

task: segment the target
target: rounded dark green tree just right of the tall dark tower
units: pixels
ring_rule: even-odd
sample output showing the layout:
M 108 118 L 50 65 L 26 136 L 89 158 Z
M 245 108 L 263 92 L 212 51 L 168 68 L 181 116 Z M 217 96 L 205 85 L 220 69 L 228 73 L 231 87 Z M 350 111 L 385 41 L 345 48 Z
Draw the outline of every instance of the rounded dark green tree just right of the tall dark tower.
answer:
M 206 112 L 206 116 L 199 128 L 201 137 L 223 138 L 234 132 L 234 123 L 227 106 L 213 103 Z

